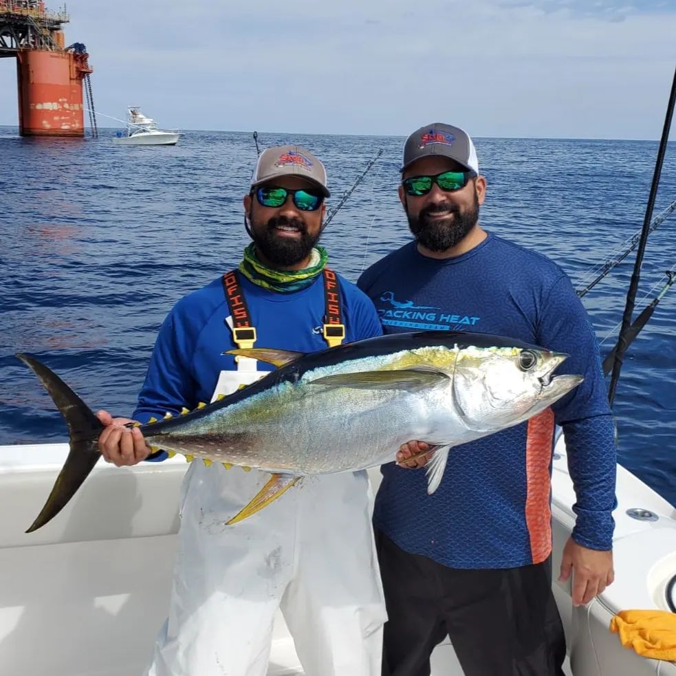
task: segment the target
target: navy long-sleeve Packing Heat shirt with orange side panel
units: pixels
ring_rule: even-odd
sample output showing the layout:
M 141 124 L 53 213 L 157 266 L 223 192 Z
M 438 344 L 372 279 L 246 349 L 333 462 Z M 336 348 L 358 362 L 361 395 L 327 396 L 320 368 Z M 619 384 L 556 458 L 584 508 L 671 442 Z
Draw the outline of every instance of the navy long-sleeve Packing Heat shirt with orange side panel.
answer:
M 556 374 L 585 380 L 518 426 L 452 448 L 441 485 L 387 464 L 374 523 L 397 545 L 454 568 L 540 563 L 552 550 L 554 425 L 563 426 L 576 490 L 573 538 L 611 549 L 615 508 L 613 419 L 596 336 L 558 265 L 491 233 L 456 258 L 424 257 L 411 242 L 366 270 L 358 286 L 385 333 L 441 329 L 517 338 L 570 355 Z

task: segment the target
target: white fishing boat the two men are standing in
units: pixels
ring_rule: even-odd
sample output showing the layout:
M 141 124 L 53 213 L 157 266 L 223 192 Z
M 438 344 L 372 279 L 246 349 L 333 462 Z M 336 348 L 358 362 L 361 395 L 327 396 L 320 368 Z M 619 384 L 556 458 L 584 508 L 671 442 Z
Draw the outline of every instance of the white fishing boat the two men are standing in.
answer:
M 142 676 L 168 611 L 186 462 L 116 468 L 101 461 L 56 519 L 25 534 L 50 492 L 67 444 L 0 446 L 0 673 Z M 373 486 L 380 480 L 370 470 Z M 574 523 L 563 439 L 553 473 L 554 570 Z M 676 664 L 640 657 L 609 631 L 626 609 L 676 601 L 676 510 L 618 466 L 615 583 L 573 607 L 553 583 L 574 676 L 676 676 Z M 670 590 L 670 591 L 669 591 Z M 36 649 L 39 640 L 39 650 Z M 281 614 L 269 676 L 303 674 Z M 433 655 L 433 676 L 462 676 L 453 646 Z M 501 676 L 501 675 L 495 675 Z

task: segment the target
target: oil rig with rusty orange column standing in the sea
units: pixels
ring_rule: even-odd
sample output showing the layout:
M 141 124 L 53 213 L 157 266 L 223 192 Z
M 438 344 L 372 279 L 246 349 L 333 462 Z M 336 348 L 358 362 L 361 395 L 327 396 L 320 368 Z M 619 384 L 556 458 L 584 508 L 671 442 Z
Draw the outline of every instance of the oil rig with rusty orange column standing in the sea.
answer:
M 84 136 L 85 110 L 97 135 L 89 54 L 82 43 L 64 46 L 68 22 L 65 6 L 54 12 L 42 0 L 0 0 L 0 58 L 17 59 L 22 136 Z

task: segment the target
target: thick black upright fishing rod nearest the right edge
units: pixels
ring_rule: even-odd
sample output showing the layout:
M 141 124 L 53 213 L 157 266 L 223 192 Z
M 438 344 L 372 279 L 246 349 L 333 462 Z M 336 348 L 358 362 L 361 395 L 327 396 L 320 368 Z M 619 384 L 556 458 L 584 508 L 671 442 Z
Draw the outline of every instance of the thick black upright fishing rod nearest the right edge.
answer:
M 608 391 L 608 400 L 613 405 L 615 401 L 615 391 L 618 388 L 618 380 L 620 379 L 620 371 L 622 370 L 622 360 L 626 348 L 629 347 L 627 338 L 631 331 L 631 316 L 633 314 L 636 290 L 641 276 L 641 266 L 643 264 L 643 257 L 646 250 L 646 242 L 648 241 L 648 230 L 650 229 L 651 219 L 653 217 L 653 208 L 655 207 L 655 197 L 657 197 L 657 188 L 659 186 L 659 177 L 662 174 L 662 164 L 664 164 L 664 155 L 666 154 L 666 144 L 669 140 L 669 130 L 671 129 L 671 120 L 673 119 L 674 105 L 676 104 L 676 68 L 674 69 L 674 78 L 669 94 L 669 102 L 666 107 L 666 116 L 664 117 L 664 128 L 662 129 L 662 139 L 659 142 L 659 150 L 657 151 L 657 160 L 655 161 L 655 172 L 653 173 L 653 183 L 651 185 L 650 195 L 648 196 L 648 205 L 646 206 L 646 217 L 643 221 L 643 229 L 641 232 L 641 239 L 636 252 L 636 260 L 634 263 L 634 271 L 629 283 L 629 291 L 626 294 L 626 305 L 624 307 L 624 314 L 622 315 L 622 327 L 620 328 L 620 336 L 618 338 L 618 345 L 615 350 L 613 358 L 613 375 Z

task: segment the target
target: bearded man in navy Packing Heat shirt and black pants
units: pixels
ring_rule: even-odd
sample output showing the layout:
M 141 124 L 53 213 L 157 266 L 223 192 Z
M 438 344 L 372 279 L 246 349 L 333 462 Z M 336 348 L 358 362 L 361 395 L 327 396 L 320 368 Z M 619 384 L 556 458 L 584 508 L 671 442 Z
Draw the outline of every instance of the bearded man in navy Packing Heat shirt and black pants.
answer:
M 569 354 L 558 373 L 585 380 L 552 410 L 452 448 L 433 495 L 425 473 L 411 471 L 429 459 L 427 444 L 404 444 L 397 465 L 383 466 L 373 515 L 389 617 L 382 674 L 429 675 L 433 648 L 450 635 L 466 676 L 562 676 L 551 588 L 555 423 L 576 491 L 559 579 L 572 573 L 576 605 L 613 581 L 615 441 L 596 338 L 558 265 L 479 225 L 486 180 L 465 131 L 418 129 L 401 171 L 415 241 L 358 281 L 384 331 L 509 336 Z

